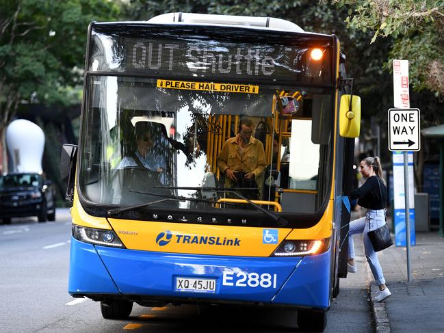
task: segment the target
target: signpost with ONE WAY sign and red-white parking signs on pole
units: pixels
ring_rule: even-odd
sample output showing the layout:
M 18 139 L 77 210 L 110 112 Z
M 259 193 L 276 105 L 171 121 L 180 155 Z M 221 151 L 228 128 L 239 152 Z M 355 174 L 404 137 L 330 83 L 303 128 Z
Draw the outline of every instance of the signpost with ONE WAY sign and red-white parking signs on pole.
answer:
M 410 109 L 410 94 L 408 88 L 408 60 L 395 59 L 393 60 L 393 104 L 395 109 L 389 109 L 389 150 L 404 152 L 404 211 L 406 222 L 407 278 L 408 282 L 410 282 L 412 277 L 410 270 L 411 237 L 408 152 L 421 149 L 421 137 L 419 136 L 419 109 Z M 395 170 L 395 161 L 393 161 L 393 180 L 395 179 Z M 413 176 L 413 163 L 411 170 Z M 395 211 L 397 208 L 401 207 L 395 206 Z

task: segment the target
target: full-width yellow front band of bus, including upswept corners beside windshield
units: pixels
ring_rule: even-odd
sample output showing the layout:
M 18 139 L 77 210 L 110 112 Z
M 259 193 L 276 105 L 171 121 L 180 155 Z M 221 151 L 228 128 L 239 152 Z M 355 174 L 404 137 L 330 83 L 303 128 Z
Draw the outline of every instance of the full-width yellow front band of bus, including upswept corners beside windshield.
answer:
M 131 250 L 266 257 L 270 256 L 284 239 L 324 239 L 330 237 L 332 234 L 332 207 L 333 201 L 330 200 L 319 223 L 311 228 L 301 229 L 210 226 L 129 219 L 108 219 L 108 223 L 105 217 L 94 217 L 86 213 L 79 203 L 77 194 L 75 194 L 71 213 L 73 223 L 79 226 L 114 229 L 125 247 Z M 266 229 L 278 230 L 276 243 L 263 242 L 263 232 Z M 157 237 L 167 231 L 172 234 L 170 242 L 164 246 L 157 244 Z M 207 243 L 203 243 L 201 239 L 206 239 Z

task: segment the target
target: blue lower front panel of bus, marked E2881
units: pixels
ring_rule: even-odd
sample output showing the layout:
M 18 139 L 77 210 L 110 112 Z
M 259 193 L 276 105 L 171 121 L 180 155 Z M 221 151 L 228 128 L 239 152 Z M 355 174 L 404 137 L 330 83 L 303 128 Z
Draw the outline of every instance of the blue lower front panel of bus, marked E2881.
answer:
M 329 305 L 330 252 L 296 258 L 206 256 L 93 247 L 75 239 L 71 251 L 76 255 L 71 254 L 70 292 L 106 290 L 125 297 L 191 297 L 324 309 Z M 177 278 L 213 279 L 216 290 L 179 291 Z M 114 287 L 113 292 L 112 286 L 118 291 Z

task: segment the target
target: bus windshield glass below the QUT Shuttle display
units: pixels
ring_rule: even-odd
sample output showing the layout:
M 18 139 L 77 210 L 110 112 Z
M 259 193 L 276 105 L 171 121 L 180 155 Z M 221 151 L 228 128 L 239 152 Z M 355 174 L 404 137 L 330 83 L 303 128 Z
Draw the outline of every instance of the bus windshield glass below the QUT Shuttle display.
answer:
M 285 207 L 285 202 L 283 211 L 313 213 L 317 208 L 317 193 L 323 188 L 319 182 L 328 179 L 321 174 L 325 172 L 321 157 L 328 156 L 330 143 L 330 124 L 319 126 L 328 122 L 331 104 L 330 95 L 322 89 L 261 86 L 258 94 L 202 92 L 158 88 L 156 79 L 116 76 L 91 76 L 88 85 L 90 116 L 83 125 L 80 176 L 88 200 L 129 205 L 162 195 L 215 201 L 226 197 L 215 191 L 225 185 L 218 155 L 226 139 L 239 132 L 241 120 L 248 118 L 252 137 L 261 142 L 265 156 L 263 172 L 256 178 L 258 199 L 275 200 L 272 176 L 280 189 L 293 190 L 283 192 L 282 200 L 298 190 L 313 199 L 307 201 L 311 211 L 306 204 L 296 211 Z M 276 97 L 285 91 L 301 96 L 299 101 Z M 280 131 L 279 107 L 282 116 L 286 109 L 289 115 Z M 319 131 L 325 133 L 318 135 Z M 193 207 L 191 201 L 162 204 Z

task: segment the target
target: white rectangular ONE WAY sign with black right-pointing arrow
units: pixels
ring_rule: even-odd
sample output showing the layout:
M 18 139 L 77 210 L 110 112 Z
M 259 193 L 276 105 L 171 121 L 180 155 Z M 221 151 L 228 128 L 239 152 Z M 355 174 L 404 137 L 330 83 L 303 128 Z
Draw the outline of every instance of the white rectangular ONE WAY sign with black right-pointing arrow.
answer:
M 421 149 L 419 109 L 389 109 L 389 150 Z

